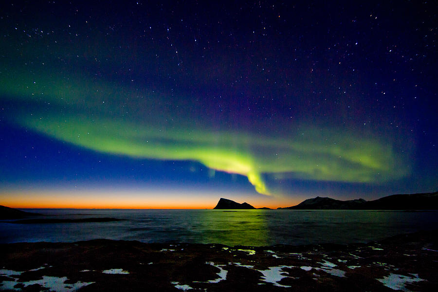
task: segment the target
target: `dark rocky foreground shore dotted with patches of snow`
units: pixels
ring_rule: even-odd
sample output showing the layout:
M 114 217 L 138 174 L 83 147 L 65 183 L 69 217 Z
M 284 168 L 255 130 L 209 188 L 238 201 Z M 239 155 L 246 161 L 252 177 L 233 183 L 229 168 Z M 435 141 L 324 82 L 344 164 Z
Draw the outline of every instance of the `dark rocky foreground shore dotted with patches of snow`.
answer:
M 17 291 L 436 291 L 438 235 L 368 244 L 228 247 L 90 240 L 0 245 Z

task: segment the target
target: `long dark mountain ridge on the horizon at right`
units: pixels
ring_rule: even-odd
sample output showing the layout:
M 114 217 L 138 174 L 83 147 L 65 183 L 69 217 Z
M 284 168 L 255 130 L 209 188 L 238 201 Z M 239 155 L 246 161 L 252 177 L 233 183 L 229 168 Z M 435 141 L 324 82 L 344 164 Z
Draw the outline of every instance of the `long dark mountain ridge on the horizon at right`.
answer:
M 302 201 L 296 206 L 277 209 L 438 210 L 438 192 L 391 195 L 373 201 L 341 201 L 316 197 Z

